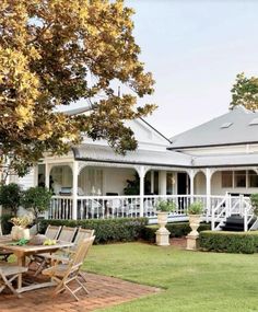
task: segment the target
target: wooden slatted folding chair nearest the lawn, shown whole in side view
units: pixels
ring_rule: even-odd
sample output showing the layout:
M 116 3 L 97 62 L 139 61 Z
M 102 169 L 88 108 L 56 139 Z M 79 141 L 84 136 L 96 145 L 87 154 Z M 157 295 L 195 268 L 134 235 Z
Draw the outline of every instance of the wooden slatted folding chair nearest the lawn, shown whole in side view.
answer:
M 89 293 L 85 285 L 80 281 L 79 273 L 94 239 L 95 236 L 84 239 L 78 245 L 75 253 L 71 254 L 71 257 L 67 264 L 56 262 L 54 266 L 43 270 L 43 275 L 49 276 L 54 281 L 57 282 L 52 293 L 54 296 L 68 290 L 75 298 L 75 300 L 79 301 L 79 298 L 75 294 L 79 290 L 83 289 L 86 293 Z M 71 285 L 72 281 L 79 287 L 74 289 L 74 285 Z

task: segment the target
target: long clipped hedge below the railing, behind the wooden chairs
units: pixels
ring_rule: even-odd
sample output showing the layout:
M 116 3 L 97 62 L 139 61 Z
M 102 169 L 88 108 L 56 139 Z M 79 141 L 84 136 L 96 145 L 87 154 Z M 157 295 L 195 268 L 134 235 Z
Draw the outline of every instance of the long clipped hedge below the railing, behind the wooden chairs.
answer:
M 146 218 L 124 218 L 124 219 L 90 219 L 90 220 L 42 220 L 40 232 L 44 233 L 48 224 L 82 227 L 83 229 L 95 230 L 94 243 L 108 242 L 131 242 L 142 235 L 148 223 Z

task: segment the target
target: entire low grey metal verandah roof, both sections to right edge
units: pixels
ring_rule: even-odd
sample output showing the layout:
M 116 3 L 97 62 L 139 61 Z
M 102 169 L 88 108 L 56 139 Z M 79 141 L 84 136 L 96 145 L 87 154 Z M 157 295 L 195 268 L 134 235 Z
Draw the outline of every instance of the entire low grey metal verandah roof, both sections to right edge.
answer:
M 73 148 L 74 158 L 103 163 L 144 164 L 168 167 L 231 167 L 258 166 L 258 153 L 189 155 L 175 151 L 137 150 L 126 155 L 115 153 L 112 148 L 98 145 L 81 145 Z

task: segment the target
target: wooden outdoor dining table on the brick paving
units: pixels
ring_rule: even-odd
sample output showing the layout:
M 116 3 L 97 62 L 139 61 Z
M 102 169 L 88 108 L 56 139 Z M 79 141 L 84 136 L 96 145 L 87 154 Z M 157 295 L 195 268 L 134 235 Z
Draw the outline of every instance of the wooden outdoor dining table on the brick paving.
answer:
M 26 266 L 26 256 L 35 255 L 35 254 L 44 254 L 44 253 L 55 253 L 56 251 L 60 249 L 71 247 L 72 243 L 67 242 L 57 242 L 55 245 L 13 245 L 13 241 L 9 240 L 1 240 L 0 239 L 0 249 L 3 249 L 5 251 L 11 251 L 17 258 L 17 265 L 20 266 Z M 19 275 L 17 279 L 17 292 L 24 292 L 33 289 L 44 288 L 54 286 L 55 284 L 52 281 L 47 282 L 38 282 L 33 284 L 26 287 L 22 286 L 22 274 Z

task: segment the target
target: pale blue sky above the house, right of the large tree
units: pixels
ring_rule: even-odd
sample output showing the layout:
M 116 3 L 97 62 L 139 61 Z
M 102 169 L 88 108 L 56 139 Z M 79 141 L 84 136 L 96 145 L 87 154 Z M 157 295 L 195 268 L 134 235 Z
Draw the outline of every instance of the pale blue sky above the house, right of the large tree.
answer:
M 228 111 L 236 74 L 258 77 L 258 1 L 126 0 L 156 81 L 145 118 L 171 138 Z

